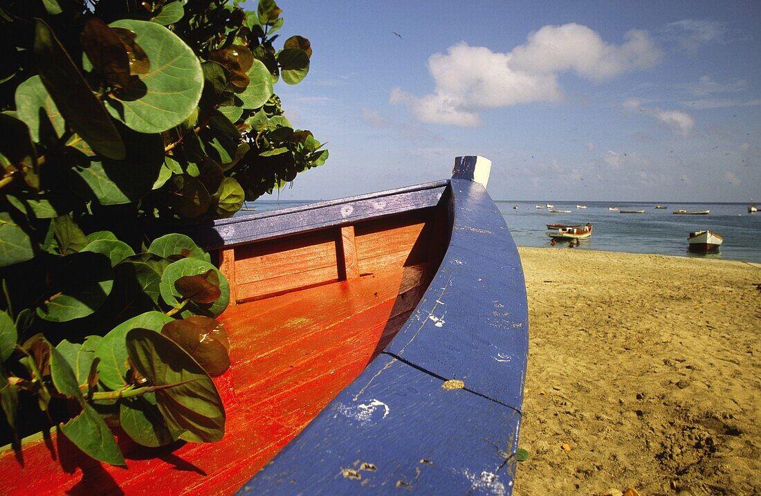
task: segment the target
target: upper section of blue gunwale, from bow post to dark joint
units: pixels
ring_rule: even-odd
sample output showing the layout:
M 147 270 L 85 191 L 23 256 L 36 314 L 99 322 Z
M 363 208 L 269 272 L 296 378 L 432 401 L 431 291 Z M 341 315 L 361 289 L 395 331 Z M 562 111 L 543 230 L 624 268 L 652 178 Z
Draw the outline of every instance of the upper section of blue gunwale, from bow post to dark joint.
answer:
M 521 409 L 528 353 L 526 287 L 505 219 L 482 186 L 452 180 L 447 254 L 418 311 L 386 351 Z

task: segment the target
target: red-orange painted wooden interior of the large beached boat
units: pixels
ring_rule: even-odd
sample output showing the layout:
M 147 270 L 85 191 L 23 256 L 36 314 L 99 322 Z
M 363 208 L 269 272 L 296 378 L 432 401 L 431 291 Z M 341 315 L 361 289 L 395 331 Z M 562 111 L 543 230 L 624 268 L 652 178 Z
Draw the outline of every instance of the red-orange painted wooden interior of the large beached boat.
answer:
M 224 439 L 158 449 L 120 440 L 126 469 L 62 436 L 27 441 L 23 469 L 0 453 L 0 493 L 237 491 L 393 339 L 438 269 L 448 226 L 440 205 L 221 250 L 234 302 L 220 317 L 232 366 L 215 379 Z

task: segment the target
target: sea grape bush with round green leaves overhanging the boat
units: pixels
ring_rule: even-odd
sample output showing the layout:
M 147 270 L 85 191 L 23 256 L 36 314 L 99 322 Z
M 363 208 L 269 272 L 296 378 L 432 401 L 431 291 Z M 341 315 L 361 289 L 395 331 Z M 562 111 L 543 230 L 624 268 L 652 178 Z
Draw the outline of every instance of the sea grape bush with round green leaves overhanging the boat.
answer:
M 228 281 L 175 227 L 326 161 L 273 92 L 312 54 L 300 36 L 275 47 L 281 14 L 0 2 L 0 444 L 43 421 L 123 464 L 114 430 L 148 447 L 224 434 Z

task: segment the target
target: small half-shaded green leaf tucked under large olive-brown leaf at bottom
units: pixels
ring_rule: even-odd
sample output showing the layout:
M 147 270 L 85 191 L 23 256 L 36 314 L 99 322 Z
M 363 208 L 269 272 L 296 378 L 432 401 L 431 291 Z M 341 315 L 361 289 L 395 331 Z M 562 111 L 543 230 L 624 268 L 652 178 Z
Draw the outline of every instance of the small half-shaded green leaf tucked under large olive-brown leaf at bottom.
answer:
M 176 440 L 156 406 L 154 393 L 120 401 L 119 424 L 135 443 L 142 446 L 166 446 Z

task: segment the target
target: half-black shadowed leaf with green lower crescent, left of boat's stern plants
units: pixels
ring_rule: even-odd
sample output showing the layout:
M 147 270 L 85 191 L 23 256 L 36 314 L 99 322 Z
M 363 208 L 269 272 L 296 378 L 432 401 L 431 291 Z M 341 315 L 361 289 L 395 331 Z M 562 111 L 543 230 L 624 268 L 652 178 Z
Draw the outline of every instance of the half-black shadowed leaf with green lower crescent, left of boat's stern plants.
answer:
M 58 292 L 39 307 L 37 315 L 51 322 L 67 322 L 94 313 L 113 288 L 113 269 L 107 256 L 80 252 L 59 257 L 50 274 Z

